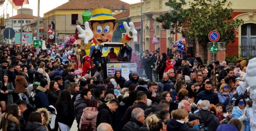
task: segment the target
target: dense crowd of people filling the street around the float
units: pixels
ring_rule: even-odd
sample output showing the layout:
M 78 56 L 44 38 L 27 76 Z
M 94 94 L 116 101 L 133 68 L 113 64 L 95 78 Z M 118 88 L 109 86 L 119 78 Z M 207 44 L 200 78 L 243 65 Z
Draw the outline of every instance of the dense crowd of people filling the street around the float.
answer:
M 138 66 L 127 80 L 119 70 L 104 77 L 101 59 L 82 72 L 70 48 L 35 55 L 2 45 L 0 128 L 69 131 L 76 121 L 79 131 L 250 131 L 252 100 L 239 87 L 245 60 L 204 65 L 170 49 L 129 55 Z

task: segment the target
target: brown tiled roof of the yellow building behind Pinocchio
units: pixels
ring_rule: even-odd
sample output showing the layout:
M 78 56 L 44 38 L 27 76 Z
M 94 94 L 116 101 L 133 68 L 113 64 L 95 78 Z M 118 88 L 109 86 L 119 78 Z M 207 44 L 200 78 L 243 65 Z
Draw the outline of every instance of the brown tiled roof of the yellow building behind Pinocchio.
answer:
M 128 3 L 120 0 L 71 0 L 61 6 L 46 12 L 45 14 L 55 10 L 89 10 L 95 8 L 109 8 L 111 10 L 128 10 Z

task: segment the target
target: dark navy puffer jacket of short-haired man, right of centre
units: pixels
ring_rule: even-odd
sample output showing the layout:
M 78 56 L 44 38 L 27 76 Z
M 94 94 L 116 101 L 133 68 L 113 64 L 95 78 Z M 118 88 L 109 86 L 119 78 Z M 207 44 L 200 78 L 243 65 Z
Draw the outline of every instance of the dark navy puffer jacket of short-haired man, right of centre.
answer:
M 219 97 L 214 92 L 206 92 L 205 90 L 198 93 L 196 97 L 195 103 L 197 103 L 199 100 L 209 100 L 211 104 L 218 104 L 219 103 Z

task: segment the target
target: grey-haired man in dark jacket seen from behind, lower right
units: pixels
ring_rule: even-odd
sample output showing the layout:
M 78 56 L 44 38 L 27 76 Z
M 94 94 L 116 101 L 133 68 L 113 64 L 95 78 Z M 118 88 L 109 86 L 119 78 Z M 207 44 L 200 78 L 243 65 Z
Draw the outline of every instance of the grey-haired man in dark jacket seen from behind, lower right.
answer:
M 201 103 L 201 110 L 196 113 L 199 116 L 200 124 L 204 124 L 204 127 L 208 127 L 207 131 L 216 131 L 217 127 L 220 125 L 219 118 L 214 116 L 210 111 L 210 102 L 208 100 L 203 100 Z

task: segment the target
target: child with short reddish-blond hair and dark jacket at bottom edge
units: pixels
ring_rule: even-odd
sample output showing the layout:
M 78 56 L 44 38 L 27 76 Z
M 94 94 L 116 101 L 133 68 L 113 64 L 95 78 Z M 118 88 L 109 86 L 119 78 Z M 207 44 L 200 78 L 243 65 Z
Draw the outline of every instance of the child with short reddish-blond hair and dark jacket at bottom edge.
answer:
M 167 131 L 198 131 L 190 128 L 188 123 L 188 112 L 184 109 L 171 111 L 171 119 L 167 124 Z

